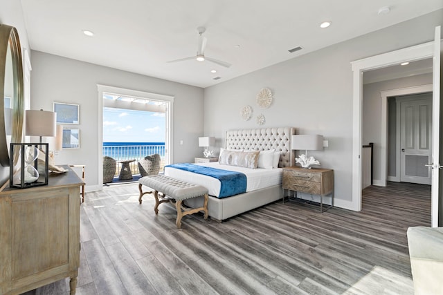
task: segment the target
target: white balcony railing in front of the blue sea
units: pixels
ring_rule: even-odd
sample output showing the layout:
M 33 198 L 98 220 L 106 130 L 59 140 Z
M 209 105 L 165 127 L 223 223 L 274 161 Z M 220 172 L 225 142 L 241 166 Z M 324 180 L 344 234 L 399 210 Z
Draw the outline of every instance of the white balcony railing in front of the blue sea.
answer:
M 122 163 L 120 162 L 126 160 L 135 160 L 134 162 L 129 163 L 132 175 L 140 174 L 140 171 L 138 171 L 138 161 L 145 158 L 147 155 L 153 155 L 154 153 L 160 155 L 160 171 L 163 172 L 165 166 L 165 146 L 163 144 L 103 146 L 103 156 L 107 155 L 117 161 L 116 176 L 118 176 L 122 167 Z

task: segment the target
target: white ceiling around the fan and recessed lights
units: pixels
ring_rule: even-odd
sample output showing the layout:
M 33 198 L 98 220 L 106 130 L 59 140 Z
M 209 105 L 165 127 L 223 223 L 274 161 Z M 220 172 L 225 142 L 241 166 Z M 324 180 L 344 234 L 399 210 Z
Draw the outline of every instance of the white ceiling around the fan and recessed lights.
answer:
M 207 87 L 443 8 L 442 0 L 21 0 L 30 47 Z M 379 8 L 390 6 L 388 15 Z M 332 21 L 326 29 L 322 21 Z M 206 27 L 208 61 L 197 53 Z M 93 37 L 83 35 L 91 30 Z M 235 48 L 239 45 L 239 48 Z M 288 50 L 296 46 L 296 53 Z M 217 73 L 210 73 L 215 69 Z M 214 80 L 214 77 L 221 79 Z

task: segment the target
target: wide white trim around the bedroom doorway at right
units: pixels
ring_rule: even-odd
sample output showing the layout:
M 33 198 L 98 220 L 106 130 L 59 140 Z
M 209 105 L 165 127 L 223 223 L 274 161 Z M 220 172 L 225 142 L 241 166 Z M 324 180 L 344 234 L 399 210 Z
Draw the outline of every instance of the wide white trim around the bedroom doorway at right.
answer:
M 384 68 L 400 64 L 403 61 L 415 61 L 433 57 L 433 44 L 428 42 L 408 48 L 383 53 L 374 57 L 368 57 L 352 61 L 353 72 L 353 117 L 352 117 L 352 210 L 361 211 L 361 105 L 363 99 L 363 71 L 375 68 Z

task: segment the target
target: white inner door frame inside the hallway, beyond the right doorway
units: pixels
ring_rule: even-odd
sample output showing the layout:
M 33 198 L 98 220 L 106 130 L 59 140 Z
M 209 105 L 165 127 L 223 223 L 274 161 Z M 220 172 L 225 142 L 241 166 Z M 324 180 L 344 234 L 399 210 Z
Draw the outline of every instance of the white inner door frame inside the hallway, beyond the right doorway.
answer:
M 383 183 L 381 186 L 386 187 L 386 180 L 388 180 L 388 97 L 396 97 L 401 95 L 413 95 L 419 93 L 429 93 L 432 92 L 432 84 L 425 84 L 420 86 L 412 86 L 398 89 L 391 89 L 388 91 L 381 91 L 381 136 L 380 136 L 380 182 Z M 397 108 L 397 146 L 399 146 L 399 116 L 398 116 L 398 108 Z M 400 157 L 399 153 L 396 154 L 396 168 L 395 175 L 391 176 L 391 178 L 395 178 L 397 182 L 400 181 L 399 178 L 399 165 L 400 165 Z

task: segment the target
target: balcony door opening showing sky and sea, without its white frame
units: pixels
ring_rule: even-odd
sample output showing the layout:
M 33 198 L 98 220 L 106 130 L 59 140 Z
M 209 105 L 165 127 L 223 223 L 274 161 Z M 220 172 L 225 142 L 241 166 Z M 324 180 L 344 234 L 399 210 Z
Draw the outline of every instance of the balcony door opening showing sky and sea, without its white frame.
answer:
M 103 156 L 116 160 L 116 169 L 111 183 L 138 180 L 141 174 L 138 162 L 153 155 L 159 155 L 159 172 L 162 173 L 165 166 L 166 124 L 163 111 L 165 103 L 154 102 L 155 106 L 161 107 L 161 111 L 139 111 L 136 106 L 117 107 L 118 101 L 132 100 L 134 102 L 134 97 L 116 97 L 105 93 L 103 99 L 110 100 L 110 102 L 105 100 L 103 107 Z M 129 170 L 122 175 L 120 171 L 123 171 L 124 167 Z

